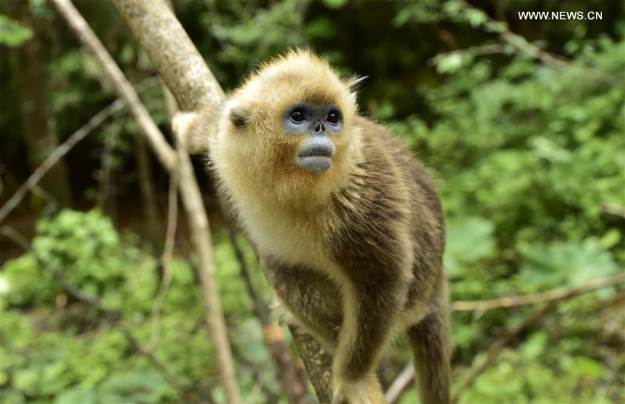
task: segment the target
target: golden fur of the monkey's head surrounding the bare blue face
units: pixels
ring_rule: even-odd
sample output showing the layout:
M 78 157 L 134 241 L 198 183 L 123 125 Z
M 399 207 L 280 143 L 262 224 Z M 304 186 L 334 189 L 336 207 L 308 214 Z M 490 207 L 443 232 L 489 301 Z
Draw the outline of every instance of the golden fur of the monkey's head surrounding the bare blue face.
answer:
M 359 134 L 353 124 L 353 87 L 358 81 L 340 79 L 326 60 L 303 50 L 260 65 L 233 92 L 219 133 L 210 141 L 211 160 L 218 177 L 231 188 L 227 191 L 296 209 L 327 202 L 359 161 Z M 308 172 L 294 162 L 301 136 L 286 131 L 282 119 L 287 108 L 301 102 L 335 104 L 342 113 L 342 131 L 331 137 L 332 166 L 325 172 Z

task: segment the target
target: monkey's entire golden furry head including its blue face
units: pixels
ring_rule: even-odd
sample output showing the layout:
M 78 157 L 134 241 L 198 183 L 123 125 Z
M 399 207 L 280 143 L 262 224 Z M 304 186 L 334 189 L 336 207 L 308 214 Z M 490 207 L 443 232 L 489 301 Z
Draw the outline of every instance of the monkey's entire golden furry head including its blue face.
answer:
M 238 195 L 324 202 L 358 162 L 358 81 L 307 51 L 261 65 L 228 100 L 210 145 L 219 177 Z

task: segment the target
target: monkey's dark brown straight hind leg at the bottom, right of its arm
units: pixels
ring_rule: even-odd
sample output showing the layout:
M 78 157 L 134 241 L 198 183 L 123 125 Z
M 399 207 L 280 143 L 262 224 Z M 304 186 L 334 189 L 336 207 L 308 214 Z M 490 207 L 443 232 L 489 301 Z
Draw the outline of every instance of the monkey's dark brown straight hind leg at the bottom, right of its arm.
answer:
M 408 329 L 422 404 L 449 403 L 449 322 L 447 309 L 437 307 Z

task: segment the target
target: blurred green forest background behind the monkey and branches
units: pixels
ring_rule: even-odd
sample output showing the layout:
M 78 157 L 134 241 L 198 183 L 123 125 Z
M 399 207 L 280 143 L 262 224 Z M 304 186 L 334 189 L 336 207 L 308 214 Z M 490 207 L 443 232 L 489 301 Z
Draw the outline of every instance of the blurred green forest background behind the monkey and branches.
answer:
M 75 4 L 170 136 L 156 70 L 113 5 Z M 174 8 L 226 90 L 290 47 L 368 77 L 360 111 L 392 127 L 440 191 L 460 402 L 625 402 L 623 284 L 578 293 L 622 273 L 625 261 L 624 3 L 177 0 Z M 522 19 L 522 11 L 601 19 Z M 46 1 L 0 3 L 0 76 L 1 209 L 117 96 Z M 244 240 L 233 244 L 204 163 L 194 157 L 242 396 L 285 403 L 258 311 L 272 301 L 269 286 Z M 2 403 L 225 400 L 183 214 L 172 279 L 158 293 L 168 183 L 123 109 L 0 219 L 31 249 L 0 235 Z M 548 303 L 541 293 L 554 289 L 570 296 Z M 515 295 L 533 300 L 458 303 Z M 297 356 L 285 330 L 283 338 Z M 197 397 L 138 353 L 149 344 Z M 385 387 L 409 355 L 401 339 L 388 350 Z M 294 364 L 301 369 L 299 359 Z M 400 402 L 417 403 L 416 388 Z

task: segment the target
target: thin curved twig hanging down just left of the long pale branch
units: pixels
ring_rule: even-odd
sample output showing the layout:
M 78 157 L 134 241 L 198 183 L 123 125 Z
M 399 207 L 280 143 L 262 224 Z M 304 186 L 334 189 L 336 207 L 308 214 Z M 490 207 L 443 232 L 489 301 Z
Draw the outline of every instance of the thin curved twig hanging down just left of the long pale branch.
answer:
M 172 283 L 172 256 L 174 255 L 174 244 L 176 243 L 176 226 L 178 223 L 178 171 L 173 170 L 169 177 L 169 207 L 167 208 L 167 236 L 165 248 L 160 262 L 163 265 L 163 279 L 160 281 L 160 288 L 152 304 L 152 335 L 149 342 L 144 346 L 147 352 L 153 352 L 158 346 L 160 339 L 160 312 L 163 309 L 165 295 Z

